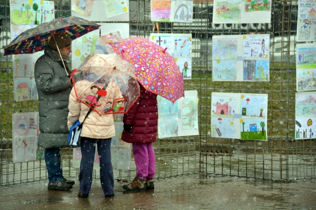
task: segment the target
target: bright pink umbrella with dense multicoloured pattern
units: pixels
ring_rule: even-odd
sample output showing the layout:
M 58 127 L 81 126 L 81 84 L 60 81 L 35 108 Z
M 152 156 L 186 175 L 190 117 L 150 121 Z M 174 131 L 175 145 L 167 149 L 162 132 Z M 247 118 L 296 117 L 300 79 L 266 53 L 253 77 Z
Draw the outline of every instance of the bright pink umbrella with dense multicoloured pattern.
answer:
M 184 81 L 174 58 L 158 44 L 143 37 L 110 43 L 123 60 L 135 68 L 135 75 L 146 90 L 171 102 L 184 97 Z

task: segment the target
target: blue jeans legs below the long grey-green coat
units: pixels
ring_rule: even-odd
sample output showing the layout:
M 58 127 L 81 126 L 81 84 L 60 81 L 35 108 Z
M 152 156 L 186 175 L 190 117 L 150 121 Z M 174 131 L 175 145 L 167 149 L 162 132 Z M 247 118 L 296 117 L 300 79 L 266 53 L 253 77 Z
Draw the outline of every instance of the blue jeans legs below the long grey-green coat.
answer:
M 63 170 L 60 168 L 60 148 L 45 149 L 45 163 L 48 173 L 48 182 L 60 181 L 64 178 Z

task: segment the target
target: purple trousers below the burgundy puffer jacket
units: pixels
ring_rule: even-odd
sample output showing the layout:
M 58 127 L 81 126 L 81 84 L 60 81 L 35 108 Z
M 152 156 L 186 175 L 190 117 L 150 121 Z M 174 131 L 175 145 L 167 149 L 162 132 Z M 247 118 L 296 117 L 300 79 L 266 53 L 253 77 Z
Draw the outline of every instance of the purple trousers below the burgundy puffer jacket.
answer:
M 154 178 L 156 173 L 155 151 L 152 143 L 133 143 L 136 175 L 141 180 Z

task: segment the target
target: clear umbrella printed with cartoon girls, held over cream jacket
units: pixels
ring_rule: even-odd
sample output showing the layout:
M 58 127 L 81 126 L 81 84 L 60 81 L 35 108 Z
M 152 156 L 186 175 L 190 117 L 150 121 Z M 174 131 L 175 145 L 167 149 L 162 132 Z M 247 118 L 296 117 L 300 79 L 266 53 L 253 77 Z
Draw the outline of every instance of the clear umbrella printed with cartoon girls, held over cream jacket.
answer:
M 127 113 L 140 97 L 133 66 L 117 54 L 91 54 L 71 74 L 77 100 L 102 114 Z

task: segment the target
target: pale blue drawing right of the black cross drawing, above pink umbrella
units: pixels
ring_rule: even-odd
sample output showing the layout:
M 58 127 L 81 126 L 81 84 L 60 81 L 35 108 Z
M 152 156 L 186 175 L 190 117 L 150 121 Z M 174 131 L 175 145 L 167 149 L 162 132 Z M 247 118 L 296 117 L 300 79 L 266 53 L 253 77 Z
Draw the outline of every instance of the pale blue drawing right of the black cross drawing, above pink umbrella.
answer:
M 192 38 L 191 36 L 174 37 L 174 57 L 191 58 L 192 57 Z

